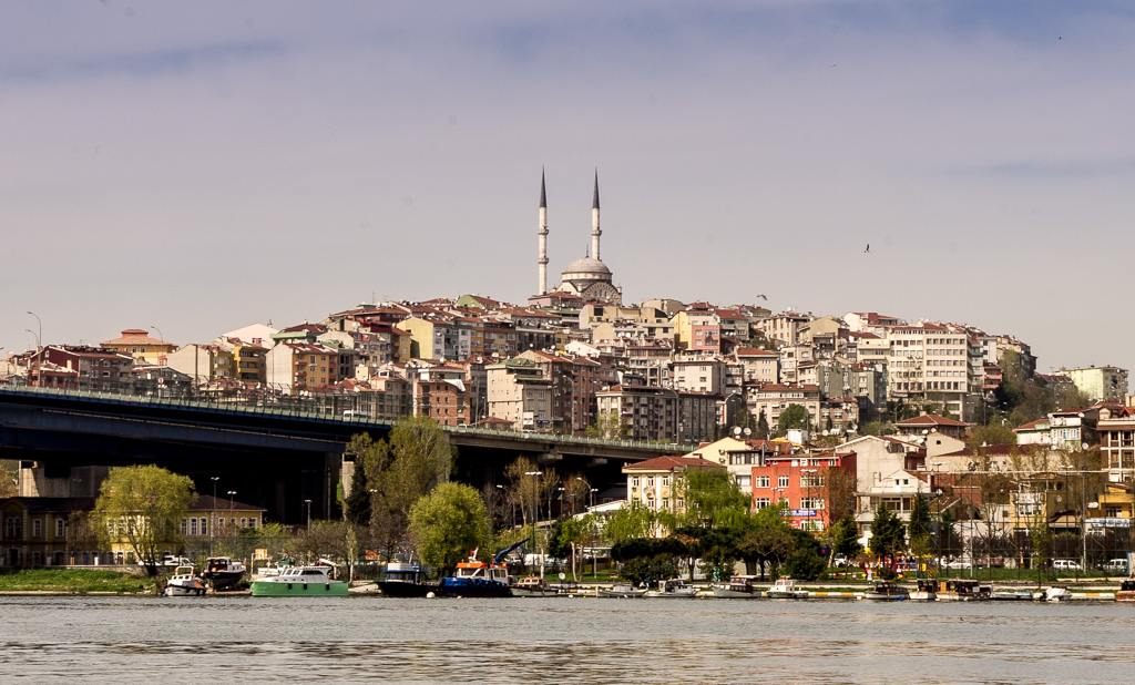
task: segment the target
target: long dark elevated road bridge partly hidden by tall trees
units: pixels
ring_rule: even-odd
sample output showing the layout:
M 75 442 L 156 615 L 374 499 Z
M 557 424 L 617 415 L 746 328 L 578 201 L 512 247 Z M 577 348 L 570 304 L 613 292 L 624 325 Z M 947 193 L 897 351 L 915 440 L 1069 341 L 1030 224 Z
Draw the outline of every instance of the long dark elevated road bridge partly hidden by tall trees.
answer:
M 96 494 L 111 466 L 158 464 L 193 479 L 197 492 L 268 509 L 272 521 L 302 522 L 310 507 L 328 517 L 351 438 L 376 440 L 384 422 L 312 403 L 218 401 L 75 389 L 0 388 L 0 458 L 17 459 L 23 494 Z M 563 475 L 583 473 L 603 487 L 621 482 L 623 464 L 689 446 L 445 428 L 457 448 L 454 479 L 501 482 L 505 465 L 532 458 Z

